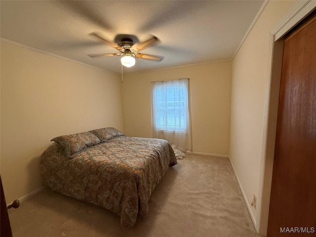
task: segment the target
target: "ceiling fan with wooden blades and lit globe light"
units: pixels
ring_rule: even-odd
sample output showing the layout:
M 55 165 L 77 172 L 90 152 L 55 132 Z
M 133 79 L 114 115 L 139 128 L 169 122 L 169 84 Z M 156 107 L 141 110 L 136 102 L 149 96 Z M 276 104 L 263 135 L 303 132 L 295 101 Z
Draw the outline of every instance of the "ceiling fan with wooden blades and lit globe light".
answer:
M 108 46 L 111 46 L 119 51 L 119 53 L 98 53 L 98 54 L 88 54 L 91 58 L 98 58 L 98 57 L 112 57 L 112 56 L 122 56 L 120 62 L 125 67 L 132 67 L 135 65 L 136 58 L 152 60 L 152 61 L 161 61 L 163 59 L 162 56 L 150 55 L 140 53 L 139 51 L 153 46 L 155 43 L 158 43 L 159 40 L 156 36 L 152 36 L 148 40 L 142 42 L 134 43 L 131 38 L 123 38 L 117 44 L 115 42 L 106 40 L 97 32 L 92 32 L 88 36 L 99 40 L 105 43 Z

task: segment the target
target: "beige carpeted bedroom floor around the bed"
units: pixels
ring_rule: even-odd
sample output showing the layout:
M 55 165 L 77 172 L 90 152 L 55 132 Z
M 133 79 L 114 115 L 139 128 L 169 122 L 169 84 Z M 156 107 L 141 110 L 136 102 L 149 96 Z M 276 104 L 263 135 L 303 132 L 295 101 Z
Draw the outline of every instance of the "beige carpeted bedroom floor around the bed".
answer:
M 169 167 L 132 230 L 93 204 L 48 189 L 9 209 L 13 237 L 257 237 L 228 158 L 187 155 Z

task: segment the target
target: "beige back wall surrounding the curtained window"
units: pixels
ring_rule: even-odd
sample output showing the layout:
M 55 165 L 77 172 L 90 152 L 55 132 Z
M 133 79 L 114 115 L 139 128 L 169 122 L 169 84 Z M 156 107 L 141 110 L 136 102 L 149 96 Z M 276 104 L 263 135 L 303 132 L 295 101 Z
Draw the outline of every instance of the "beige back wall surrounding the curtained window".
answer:
M 125 134 L 152 137 L 151 81 L 190 78 L 193 151 L 228 155 L 231 66 L 231 62 L 214 62 L 125 75 Z

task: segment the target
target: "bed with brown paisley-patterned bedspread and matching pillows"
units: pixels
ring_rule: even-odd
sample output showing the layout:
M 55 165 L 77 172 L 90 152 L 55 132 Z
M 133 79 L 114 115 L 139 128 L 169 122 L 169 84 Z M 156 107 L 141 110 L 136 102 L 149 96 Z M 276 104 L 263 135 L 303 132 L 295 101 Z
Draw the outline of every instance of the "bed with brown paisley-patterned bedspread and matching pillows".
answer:
M 148 213 L 159 180 L 177 164 L 167 141 L 126 137 L 113 127 L 51 141 L 40 159 L 43 185 L 117 213 L 124 229 Z

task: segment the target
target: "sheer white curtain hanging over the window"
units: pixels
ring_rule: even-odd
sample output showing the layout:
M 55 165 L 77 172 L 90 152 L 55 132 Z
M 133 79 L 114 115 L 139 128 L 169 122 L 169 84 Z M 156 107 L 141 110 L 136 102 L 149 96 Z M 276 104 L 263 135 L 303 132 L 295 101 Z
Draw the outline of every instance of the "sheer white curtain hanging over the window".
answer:
M 189 79 L 152 83 L 153 136 L 186 152 L 191 148 Z

